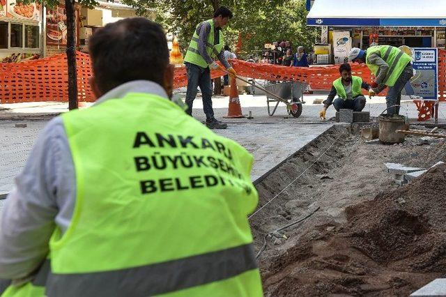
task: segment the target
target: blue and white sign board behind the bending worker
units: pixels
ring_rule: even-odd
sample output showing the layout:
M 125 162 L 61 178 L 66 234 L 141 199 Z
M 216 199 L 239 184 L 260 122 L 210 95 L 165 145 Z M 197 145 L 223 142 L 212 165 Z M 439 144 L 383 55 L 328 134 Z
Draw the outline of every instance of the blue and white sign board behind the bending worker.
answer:
M 410 79 L 407 95 L 422 97 L 424 100 L 437 100 L 438 96 L 438 50 L 436 48 L 410 49 L 414 75 Z

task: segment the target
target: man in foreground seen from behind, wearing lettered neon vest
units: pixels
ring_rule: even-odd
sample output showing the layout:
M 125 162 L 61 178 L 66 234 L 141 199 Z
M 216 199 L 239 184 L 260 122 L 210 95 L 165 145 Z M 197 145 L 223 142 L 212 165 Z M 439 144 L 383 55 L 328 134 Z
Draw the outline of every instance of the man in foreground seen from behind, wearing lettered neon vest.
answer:
M 160 25 L 89 46 L 98 100 L 49 121 L 6 198 L 0 295 L 262 296 L 252 155 L 172 100 Z

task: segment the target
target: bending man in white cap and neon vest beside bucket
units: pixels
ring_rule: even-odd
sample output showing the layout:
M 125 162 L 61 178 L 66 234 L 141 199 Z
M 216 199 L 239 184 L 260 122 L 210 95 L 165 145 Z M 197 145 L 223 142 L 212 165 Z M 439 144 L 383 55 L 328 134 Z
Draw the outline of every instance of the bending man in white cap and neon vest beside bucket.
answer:
M 353 62 L 366 63 L 371 73 L 375 75 L 372 89 L 378 94 L 386 86 L 389 87 L 385 101 L 387 114 L 399 114 L 401 91 L 413 77 L 412 58 L 398 47 L 376 45 L 367 50 L 353 47 L 348 58 Z

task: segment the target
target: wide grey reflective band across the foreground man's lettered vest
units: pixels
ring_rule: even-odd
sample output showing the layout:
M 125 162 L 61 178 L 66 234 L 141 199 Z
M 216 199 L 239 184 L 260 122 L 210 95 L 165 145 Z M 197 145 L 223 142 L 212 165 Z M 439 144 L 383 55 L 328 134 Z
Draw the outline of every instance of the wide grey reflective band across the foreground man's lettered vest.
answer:
M 51 274 L 47 293 L 64 297 L 153 296 L 225 280 L 256 268 L 254 249 L 249 244 L 118 271 Z

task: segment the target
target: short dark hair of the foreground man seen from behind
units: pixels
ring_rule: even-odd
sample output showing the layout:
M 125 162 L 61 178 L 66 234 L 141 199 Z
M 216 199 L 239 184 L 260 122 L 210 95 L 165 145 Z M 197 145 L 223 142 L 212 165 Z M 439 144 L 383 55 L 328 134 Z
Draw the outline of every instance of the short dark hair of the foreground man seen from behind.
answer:
M 162 27 L 144 17 L 107 24 L 89 40 L 96 83 L 106 93 L 125 82 L 164 82 L 169 48 Z

